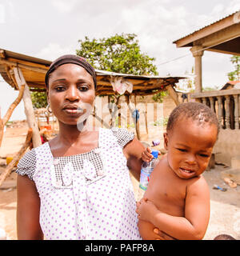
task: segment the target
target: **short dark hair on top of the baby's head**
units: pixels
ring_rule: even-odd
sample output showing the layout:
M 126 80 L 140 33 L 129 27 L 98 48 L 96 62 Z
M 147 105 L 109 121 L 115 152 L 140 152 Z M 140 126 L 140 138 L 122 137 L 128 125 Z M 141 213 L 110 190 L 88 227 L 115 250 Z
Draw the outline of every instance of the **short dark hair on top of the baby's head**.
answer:
M 181 103 L 171 112 L 167 122 L 166 131 L 173 130 L 174 125 L 179 118 L 191 118 L 199 125 L 209 124 L 216 126 L 219 132 L 218 118 L 209 106 L 199 102 Z

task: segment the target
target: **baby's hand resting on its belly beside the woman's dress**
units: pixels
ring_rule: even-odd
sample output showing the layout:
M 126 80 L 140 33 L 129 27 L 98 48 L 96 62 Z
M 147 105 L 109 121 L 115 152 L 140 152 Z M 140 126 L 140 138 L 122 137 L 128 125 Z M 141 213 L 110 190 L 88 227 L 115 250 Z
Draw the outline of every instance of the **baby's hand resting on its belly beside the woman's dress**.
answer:
M 140 202 L 137 202 L 136 213 L 138 214 L 139 219 L 150 222 L 151 216 L 157 214 L 157 212 L 158 208 L 147 198 L 142 198 Z

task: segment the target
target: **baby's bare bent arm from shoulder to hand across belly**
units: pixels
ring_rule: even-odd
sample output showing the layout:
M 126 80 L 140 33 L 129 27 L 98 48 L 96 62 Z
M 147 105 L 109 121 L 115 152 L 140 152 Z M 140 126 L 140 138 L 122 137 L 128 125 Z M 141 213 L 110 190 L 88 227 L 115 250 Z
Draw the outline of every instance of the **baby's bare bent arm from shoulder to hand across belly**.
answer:
M 202 239 L 210 218 L 210 194 L 204 178 L 190 184 L 186 191 L 185 217 L 165 214 L 153 202 L 138 202 L 138 218 L 151 222 L 170 236 L 182 240 Z

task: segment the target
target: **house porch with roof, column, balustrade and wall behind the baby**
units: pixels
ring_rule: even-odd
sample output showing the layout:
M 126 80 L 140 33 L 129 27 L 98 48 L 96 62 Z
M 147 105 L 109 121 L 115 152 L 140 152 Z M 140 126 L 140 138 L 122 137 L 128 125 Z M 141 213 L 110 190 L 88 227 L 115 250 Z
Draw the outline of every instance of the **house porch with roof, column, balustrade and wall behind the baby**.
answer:
M 217 161 L 231 165 L 231 159 L 238 157 L 240 151 L 240 89 L 227 86 L 229 90 L 202 92 L 202 55 L 205 50 L 210 50 L 240 56 L 240 11 L 194 31 L 174 41 L 174 44 L 177 47 L 190 47 L 195 58 L 196 75 L 195 91 L 191 98 L 210 106 L 218 115 L 221 130 L 214 152 L 218 153 Z

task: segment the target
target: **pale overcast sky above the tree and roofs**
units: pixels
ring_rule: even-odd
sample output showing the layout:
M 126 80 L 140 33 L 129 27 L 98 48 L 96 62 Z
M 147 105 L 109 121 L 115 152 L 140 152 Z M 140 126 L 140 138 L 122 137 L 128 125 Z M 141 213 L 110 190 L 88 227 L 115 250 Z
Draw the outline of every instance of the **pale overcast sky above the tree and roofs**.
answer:
M 52 61 L 75 54 L 78 39 L 85 36 L 134 33 L 142 52 L 156 58 L 160 76 L 184 75 L 194 58 L 189 48 L 173 42 L 238 10 L 240 0 L 0 0 L 0 48 Z M 230 56 L 204 52 L 203 86 L 228 81 L 226 74 L 234 70 Z M 1 81 L 3 115 L 18 92 Z M 25 119 L 22 102 L 15 119 Z

